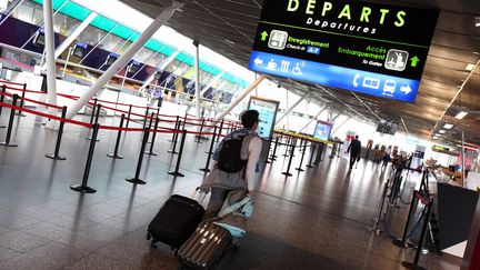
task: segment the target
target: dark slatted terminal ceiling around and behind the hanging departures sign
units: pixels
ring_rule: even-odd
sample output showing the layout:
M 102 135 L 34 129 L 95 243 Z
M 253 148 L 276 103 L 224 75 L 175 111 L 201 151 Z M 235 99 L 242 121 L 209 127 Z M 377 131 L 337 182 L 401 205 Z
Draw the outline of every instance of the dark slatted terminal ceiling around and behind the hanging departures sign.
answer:
M 152 18 L 170 4 L 169 0 L 122 1 Z M 242 67 L 248 67 L 262 2 L 263 0 L 184 0 L 184 7 L 173 14 L 168 26 Z M 459 142 L 460 130 L 463 130 L 467 142 L 480 144 L 479 68 L 466 83 L 454 103 L 447 110 L 443 121 L 439 122 L 443 111 L 469 74 L 466 70 L 467 64 L 474 64 L 479 60 L 480 27 L 474 27 L 474 17 L 480 16 L 480 1 L 381 0 L 370 2 L 440 10 L 416 103 L 386 100 L 361 93 L 353 94 L 350 91 L 328 87 L 320 89 L 318 86 L 277 77 L 269 77 L 269 79 L 297 94 L 310 91 L 313 93 L 310 96 L 310 101 L 328 104 L 331 110 L 348 112 L 358 119 L 369 119 L 373 123 L 377 123 L 379 118 L 401 122 L 401 117 L 408 131 L 422 138 L 427 138 L 432 130 L 437 133 L 444 122 L 450 122 L 456 127 L 443 136 L 446 142 Z M 464 119 L 457 120 L 453 117 L 459 110 L 467 110 L 470 113 Z M 436 126 L 437 128 L 433 129 Z

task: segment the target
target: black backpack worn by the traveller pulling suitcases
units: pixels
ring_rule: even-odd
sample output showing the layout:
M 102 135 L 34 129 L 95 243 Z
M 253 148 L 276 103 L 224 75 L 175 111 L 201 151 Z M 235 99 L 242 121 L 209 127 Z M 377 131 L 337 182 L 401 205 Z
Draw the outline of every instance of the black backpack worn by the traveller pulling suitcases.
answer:
M 243 137 L 223 141 L 218 159 L 218 168 L 224 172 L 239 172 L 247 164 L 247 160 L 241 159 L 241 147 Z

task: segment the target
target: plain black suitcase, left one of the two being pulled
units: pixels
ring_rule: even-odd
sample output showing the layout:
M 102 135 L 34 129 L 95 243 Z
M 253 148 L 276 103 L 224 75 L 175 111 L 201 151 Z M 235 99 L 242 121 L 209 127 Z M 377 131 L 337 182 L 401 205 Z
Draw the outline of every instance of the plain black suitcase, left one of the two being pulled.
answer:
M 198 201 L 173 194 L 150 222 L 147 240 L 152 238 L 152 246 L 160 241 L 178 249 L 193 233 L 203 213 L 204 209 Z

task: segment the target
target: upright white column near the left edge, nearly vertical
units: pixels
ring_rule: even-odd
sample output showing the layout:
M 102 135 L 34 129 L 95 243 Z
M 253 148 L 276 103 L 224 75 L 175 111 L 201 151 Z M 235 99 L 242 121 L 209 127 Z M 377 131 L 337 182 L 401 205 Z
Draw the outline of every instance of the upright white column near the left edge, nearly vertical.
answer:
M 52 0 L 43 1 L 43 18 L 44 18 L 44 39 L 46 39 L 46 58 L 47 58 L 47 102 L 57 104 L 57 71 L 54 61 L 54 33 L 53 33 L 53 11 Z M 49 108 L 49 114 L 57 116 L 57 109 Z M 54 127 L 54 121 L 47 123 L 48 128 Z

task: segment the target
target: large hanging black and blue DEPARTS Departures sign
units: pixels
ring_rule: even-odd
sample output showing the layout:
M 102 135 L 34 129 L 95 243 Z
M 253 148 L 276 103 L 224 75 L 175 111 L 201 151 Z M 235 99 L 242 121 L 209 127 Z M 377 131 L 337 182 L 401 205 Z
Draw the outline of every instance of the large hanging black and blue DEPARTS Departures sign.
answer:
M 264 0 L 253 71 L 414 102 L 438 10 Z

